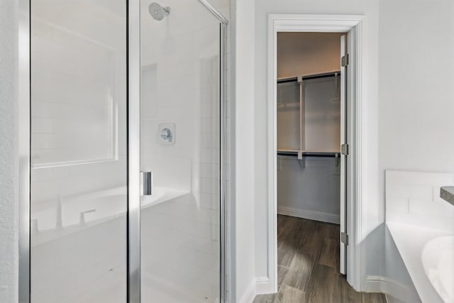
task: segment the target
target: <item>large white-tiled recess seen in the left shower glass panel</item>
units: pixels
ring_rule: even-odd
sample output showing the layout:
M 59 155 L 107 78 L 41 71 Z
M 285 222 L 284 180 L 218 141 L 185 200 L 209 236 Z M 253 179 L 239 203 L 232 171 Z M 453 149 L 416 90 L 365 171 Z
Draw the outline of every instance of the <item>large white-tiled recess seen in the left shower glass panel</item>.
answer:
M 117 160 L 125 53 L 114 39 L 53 19 L 45 11 L 32 15 L 32 165 Z

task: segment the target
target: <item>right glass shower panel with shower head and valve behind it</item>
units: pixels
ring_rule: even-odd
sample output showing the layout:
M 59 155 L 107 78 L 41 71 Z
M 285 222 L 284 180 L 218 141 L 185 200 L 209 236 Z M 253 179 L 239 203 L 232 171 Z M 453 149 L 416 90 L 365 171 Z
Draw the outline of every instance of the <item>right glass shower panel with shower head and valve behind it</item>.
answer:
M 199 1 L 170 1 L 170 14 L 150 2 L 140 16 L 141 169 L 153 172 L 142 301 L 218 302 L 220 25 Z

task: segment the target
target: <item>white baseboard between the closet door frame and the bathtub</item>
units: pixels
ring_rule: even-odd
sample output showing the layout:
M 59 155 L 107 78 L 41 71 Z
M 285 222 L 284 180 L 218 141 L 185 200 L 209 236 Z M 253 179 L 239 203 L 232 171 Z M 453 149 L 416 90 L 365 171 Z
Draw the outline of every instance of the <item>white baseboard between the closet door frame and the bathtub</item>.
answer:
M 365 279 L 365 292 L 382 292 L 387 294 L 388 302 L 421 302 L 417 294 L 409 287 L 396 280 L 378 275 L 369 275 Z

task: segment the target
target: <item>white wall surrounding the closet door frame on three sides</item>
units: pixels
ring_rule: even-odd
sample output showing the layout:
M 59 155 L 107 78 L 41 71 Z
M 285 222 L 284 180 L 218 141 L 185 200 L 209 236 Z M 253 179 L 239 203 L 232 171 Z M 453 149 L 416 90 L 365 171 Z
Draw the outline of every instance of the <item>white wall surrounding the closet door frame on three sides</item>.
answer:
M 362 186 L 364 189 L 363 208 L 365 237 L 383 220 L 380 214 L 377 187 L 377 76 L 378 76 L 378 1 L 297 1 L 284 0 L 256 1 L 255 4 L 255 275 L 267 276 L 267 14 L 268 13 L 358 13 L 364 14 L 362 70 L 364 77 L 362 97 L 363 106 L 362 133 L 367 140 L 363 142 L 363 174 Z M 252 42 L 251 42 L 252 43 Z M 366 194 L 367 193 L 367 194 Z

